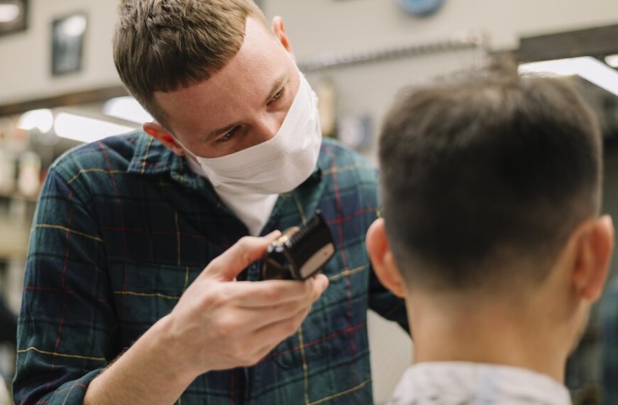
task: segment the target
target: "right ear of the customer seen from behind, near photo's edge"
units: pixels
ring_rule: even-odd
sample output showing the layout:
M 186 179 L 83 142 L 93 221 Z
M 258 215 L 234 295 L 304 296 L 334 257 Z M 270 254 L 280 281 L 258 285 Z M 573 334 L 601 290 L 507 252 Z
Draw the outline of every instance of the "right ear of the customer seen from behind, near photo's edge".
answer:
M 572 285 L 581 298 L 594 302 L 605 286 L 612 252 L 614 250 L 614 224 L 608 215 L 585 223 L 573 237 L 575 261 Z

